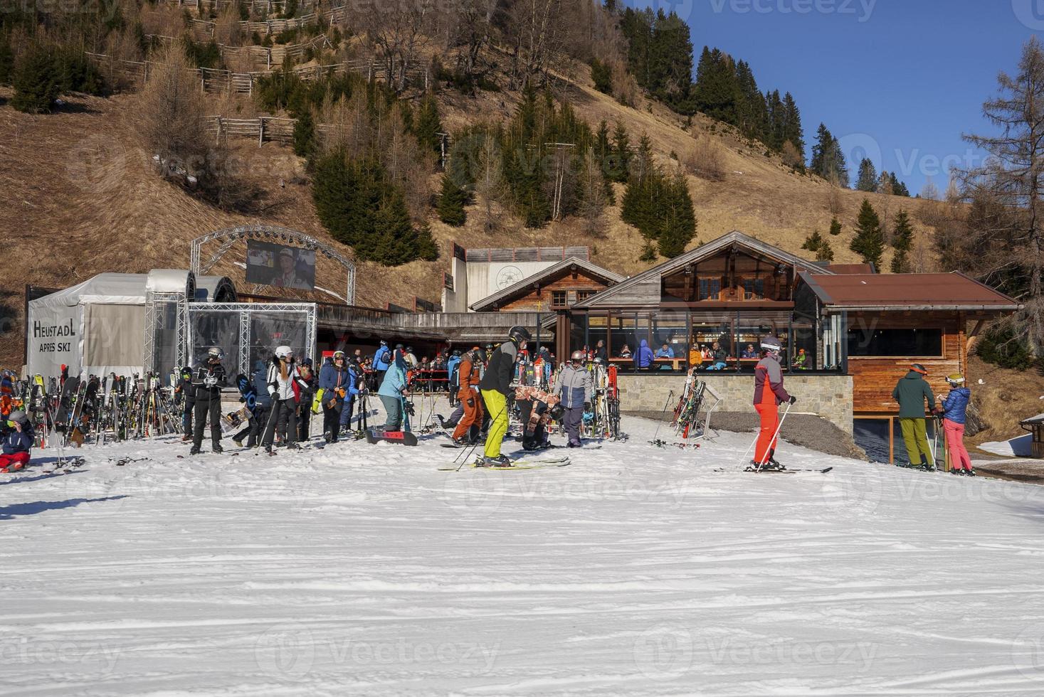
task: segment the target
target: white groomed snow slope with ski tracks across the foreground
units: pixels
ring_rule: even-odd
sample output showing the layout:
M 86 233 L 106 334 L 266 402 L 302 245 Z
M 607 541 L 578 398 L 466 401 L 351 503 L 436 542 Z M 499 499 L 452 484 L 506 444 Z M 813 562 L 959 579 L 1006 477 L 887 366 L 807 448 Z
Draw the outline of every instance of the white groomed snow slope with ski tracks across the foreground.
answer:
M 7 475 L 0 695 L 1044 695 L 1044 487 L 624 427 Z

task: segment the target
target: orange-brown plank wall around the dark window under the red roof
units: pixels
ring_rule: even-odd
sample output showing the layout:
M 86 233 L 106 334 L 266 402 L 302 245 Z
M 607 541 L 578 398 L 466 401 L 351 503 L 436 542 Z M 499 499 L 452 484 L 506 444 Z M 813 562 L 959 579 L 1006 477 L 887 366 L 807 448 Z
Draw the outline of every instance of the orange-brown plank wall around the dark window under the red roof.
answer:
M 912 363 L 928 370 L 927 381 L 936 394 L 949 390 L 946 377 L 965 374 L 968 368 L 967 319 L 963 312 L 850 312 L 849 330 L 897 329 L 942 331 L 942 346 L 938 355 L 853 356 L 848 357 L 852 376 L 854 412 L 858 415 L 891 415 L 899 412 L 892 398 L 896 382 L 906 375 Z

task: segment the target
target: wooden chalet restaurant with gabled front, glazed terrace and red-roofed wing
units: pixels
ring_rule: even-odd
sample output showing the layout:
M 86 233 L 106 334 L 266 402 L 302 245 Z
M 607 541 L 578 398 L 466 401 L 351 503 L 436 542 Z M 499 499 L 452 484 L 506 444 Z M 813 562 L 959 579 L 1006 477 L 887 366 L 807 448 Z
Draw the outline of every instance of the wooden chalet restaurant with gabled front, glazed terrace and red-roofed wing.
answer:
M 857 271 L 857 272 L 852 272 Z M 923 363 L 934 389 L 967 370 L 969 339 L 1019 308 L 962 273 L 877 274 L 869 265 L 822 265 L 729 233 L 588 297 L 568 310 L 570 348 L 603 340 L 628 410 L 657 410 L 693 365 L 722 396 L 750 409 L 751 374 L 765 334 L 783 342 L 787 388 L 803 411 L 853 432 L 853 419 L 888 419 L 896 381 Z M 565 328 L 560 329 L 560 334 Z M 671 357 L 638 370 L 621 358 L 642 341 Z M 717 342 L 723 370 L 699 350 Z M 631 374 L 630 376 L 625 374 Z

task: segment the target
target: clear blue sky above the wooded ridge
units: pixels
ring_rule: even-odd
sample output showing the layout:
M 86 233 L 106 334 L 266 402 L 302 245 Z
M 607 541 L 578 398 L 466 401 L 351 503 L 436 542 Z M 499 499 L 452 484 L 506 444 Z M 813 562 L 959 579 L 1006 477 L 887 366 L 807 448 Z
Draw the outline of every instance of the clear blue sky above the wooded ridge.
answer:
M 960 135 L 994 133 L 982 101 L 1044 30 L 1044 0 L 661 2 L 638 0 L 685 19 L 696 58 L 717 46 L 751 64 L 762 92 L 793 94 L 809 154 L 822 121 L 912 194 L 929 176 L 945 191 L 949 162 L 978 163 Z

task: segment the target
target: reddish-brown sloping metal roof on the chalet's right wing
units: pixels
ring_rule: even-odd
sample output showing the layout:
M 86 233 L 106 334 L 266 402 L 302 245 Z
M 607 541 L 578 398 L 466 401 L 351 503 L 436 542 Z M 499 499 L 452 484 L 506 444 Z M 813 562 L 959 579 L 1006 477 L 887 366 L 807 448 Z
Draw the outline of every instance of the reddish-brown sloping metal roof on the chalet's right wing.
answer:
M 1018 310 L 1018 301 L 970 279 L 950 273 L 802 273 L 802 280 L 831 309 Z

